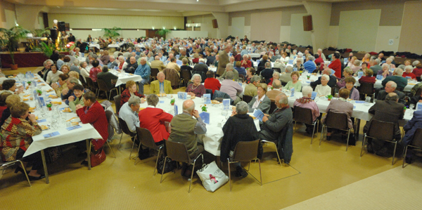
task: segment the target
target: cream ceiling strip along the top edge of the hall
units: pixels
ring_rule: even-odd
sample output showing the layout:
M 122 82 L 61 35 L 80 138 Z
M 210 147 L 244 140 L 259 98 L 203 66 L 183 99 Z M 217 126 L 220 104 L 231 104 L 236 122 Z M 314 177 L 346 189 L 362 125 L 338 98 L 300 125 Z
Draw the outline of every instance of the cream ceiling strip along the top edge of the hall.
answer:
M 301 6 L 302 0 L 6 0 L 26 6 L 47 6 L 49 13 L 191 16 L 212 12 Z M 363 1 L 363 0 L 308 0 Z M 368 1 L 368 0 L 366 0 Z

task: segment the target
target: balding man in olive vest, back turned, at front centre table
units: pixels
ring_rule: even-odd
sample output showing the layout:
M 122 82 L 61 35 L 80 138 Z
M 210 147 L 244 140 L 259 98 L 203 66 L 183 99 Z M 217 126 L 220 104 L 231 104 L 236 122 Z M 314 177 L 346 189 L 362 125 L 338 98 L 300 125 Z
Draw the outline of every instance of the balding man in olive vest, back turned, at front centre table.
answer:
M 198 157 L 203 152 L 203 145 L 198 145 L 197 136 L 207 133 L 207 127 L 199 116 L 198 110 L 195 110 L 193 100 L 185 100 L 183 103 L 183 112 L 173 117 L 170 126 L 169 141 L 184 143 L 191 159 Z M 193 119 L 195 117 L 196 119 Z M 180 151 L 183 152 L 183 151 Z M 187 165 L 182 166 L 182 176 L 191 176 L 191 171 L 186 170 Z M 186 173 L 185 173 L 186 172 Z

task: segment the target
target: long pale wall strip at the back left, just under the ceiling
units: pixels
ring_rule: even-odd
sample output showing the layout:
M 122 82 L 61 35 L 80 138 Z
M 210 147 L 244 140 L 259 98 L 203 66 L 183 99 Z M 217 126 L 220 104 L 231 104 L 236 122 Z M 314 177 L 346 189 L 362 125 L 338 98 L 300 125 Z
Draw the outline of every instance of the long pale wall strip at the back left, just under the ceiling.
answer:
M 70 28 L 92 29 L 120 27 L 122 29 L 184 29 L 184 17 L 136 16 L 136 15 L 74 15 L 49 13 L 53 20 L 70 23 Z

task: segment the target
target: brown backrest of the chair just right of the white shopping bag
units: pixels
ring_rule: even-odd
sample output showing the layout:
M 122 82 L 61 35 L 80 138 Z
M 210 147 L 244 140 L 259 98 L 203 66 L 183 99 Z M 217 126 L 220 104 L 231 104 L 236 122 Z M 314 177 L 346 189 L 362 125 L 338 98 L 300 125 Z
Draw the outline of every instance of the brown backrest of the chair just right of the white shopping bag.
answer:
M 258 144 L 260 140 L 239 141 L 234 147 L 233 161 L 250 162 L 258 155 Z

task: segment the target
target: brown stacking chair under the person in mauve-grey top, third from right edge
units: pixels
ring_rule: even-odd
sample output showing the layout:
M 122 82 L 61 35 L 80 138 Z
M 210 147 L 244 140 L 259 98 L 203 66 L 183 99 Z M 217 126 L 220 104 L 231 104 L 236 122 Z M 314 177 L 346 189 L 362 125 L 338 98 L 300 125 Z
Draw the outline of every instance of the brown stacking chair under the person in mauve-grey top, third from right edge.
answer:
M 325 123 L 322 124 L 321 138 L 319 139 L 319 145 L 321 145 L 322 137 L 324 136 L 326 128 L 338 129 L 342 131 L 348 131 L 346 152 L 349 147 L 350 129 L 347 120 L 347 114 L 328 112 Z

